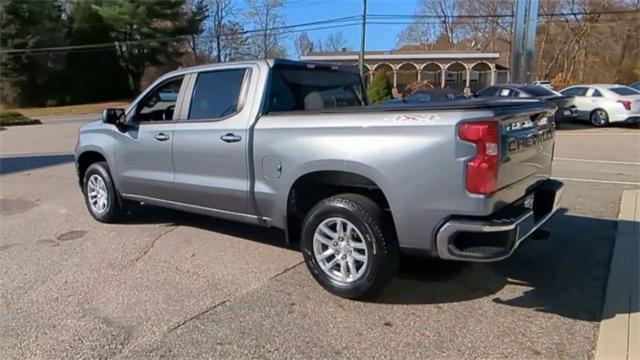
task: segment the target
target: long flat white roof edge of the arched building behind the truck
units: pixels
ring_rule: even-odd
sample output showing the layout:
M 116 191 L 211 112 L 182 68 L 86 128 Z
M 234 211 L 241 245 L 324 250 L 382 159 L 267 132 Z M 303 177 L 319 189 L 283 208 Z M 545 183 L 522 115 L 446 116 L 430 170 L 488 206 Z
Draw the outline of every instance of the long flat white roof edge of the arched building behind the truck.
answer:
M 301 56 L 301 60 L 333 60 L 333 61 L 350 61 L 358 60 L 359 53 L 357 51 L 338 51 L 338 52 L 317 52 L 312 51 L 307 55 Z M 366 51 L 364 55 L 367 60 L 437 60 L 437 59 L 487 59 L 497 60 L 500 58 L 498 53 L 484 53 L 477 51 Z

